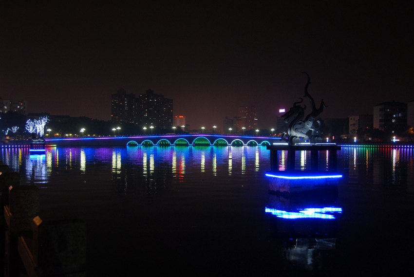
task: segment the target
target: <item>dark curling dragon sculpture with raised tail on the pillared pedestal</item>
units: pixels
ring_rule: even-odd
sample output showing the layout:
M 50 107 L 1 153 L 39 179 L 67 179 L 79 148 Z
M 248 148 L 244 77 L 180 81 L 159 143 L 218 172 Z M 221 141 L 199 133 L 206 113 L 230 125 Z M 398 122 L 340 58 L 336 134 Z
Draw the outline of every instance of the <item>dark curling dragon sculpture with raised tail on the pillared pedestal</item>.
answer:
M 308 76 L 308 82 L 305 86 L 305 95 L 304 97 L 308 98 L 311 102 L 312 111 L 309 113 L 305 120 L 303 121 L 304 111 L 306 109 L 306 105 L 303 105 L 302 108 L 301 105 L 298 105 L 302 103 L 302 98 L 300 102 L 293 103 L 293 107 L 290 108 L 288 112 L 283 114 L 282 118 L 284 122 L 288 123 L 290 120 L 291 123 L 289 124 L 289 129 L 287 131 L 288 138 L 287 141 L 289 144 L 296 144 L 300 142 L 304 142 L 309 140 L 310 143 L 320 143 L 322 142 L 322 139 L 320 138 L 320 121 L 317 120 L 315 122 L 315 118 L 320 115 L 320 113 L 323 111 L 323 108 L 326 108 L 325 104 L 323 103 L 323 99 L 320 102 L 319 109 L 316 108 L 315 101 L 313 100 L 312 96 L 308 92 L 308 86 L 310 84 L 310 77 L 307 73 L 304 72 Z M 308 131 L 311 130 L 312 134 L 311 137 L 307 135 Z M 284 138 L 285 133 L 282 134 L 282 139 Z

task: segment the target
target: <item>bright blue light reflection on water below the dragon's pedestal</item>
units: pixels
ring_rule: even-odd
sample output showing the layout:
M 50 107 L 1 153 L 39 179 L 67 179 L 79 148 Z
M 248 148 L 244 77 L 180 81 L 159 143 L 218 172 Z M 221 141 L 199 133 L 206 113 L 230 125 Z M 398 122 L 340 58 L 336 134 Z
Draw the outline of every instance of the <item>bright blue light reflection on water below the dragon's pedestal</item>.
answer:
M 303 219 L 303 218 L 318 218 L 318 219 L 335 219 L 332 213 L 342 213 L 342 208 L 325 207 L 325 208 L 305 208 L 298 209 L 296 212 L 282 211 L 274 208 L 265 208 L 266 213 L 270 213 L 279 218 L 284 219 Z

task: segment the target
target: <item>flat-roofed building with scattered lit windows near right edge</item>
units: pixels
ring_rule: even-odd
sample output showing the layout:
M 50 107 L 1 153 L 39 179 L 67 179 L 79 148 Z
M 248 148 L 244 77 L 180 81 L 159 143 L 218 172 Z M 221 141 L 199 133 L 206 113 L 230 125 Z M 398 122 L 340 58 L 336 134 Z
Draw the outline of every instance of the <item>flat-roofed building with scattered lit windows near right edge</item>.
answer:
M 407 128 L 407 104 L 384 102 L 374 106 L 374 128 L 389 133 Z

